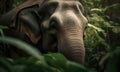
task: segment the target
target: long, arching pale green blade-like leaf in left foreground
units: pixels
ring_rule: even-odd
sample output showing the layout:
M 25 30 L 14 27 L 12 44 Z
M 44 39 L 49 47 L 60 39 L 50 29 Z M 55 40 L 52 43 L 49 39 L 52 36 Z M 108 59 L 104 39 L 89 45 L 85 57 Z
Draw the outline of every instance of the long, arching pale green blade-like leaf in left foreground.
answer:
M 36 57 L 41 60 L 43 64 L 46 64 L 44 57 L 41 55 L 41 53 L 33 46 L 20 41 L 18 39 L 10 38 L 10 37 L 0 37 L 0 42 L 8 43 L 13 46 L 16 46 L 17 48 L 24 50 L 28 54 L 32 55 L 33 57 Z

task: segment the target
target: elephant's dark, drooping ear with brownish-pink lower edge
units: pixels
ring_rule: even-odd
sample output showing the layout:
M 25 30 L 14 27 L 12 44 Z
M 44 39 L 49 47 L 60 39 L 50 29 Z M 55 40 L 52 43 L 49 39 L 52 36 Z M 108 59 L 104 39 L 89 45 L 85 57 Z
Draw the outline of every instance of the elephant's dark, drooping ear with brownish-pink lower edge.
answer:
M 33 44 L 41 37 L 40 19 L 37 14 L 37 6 L 31 6 L 20 10 L 14 23 L 15 28 L 22 34 L 27 35 Z

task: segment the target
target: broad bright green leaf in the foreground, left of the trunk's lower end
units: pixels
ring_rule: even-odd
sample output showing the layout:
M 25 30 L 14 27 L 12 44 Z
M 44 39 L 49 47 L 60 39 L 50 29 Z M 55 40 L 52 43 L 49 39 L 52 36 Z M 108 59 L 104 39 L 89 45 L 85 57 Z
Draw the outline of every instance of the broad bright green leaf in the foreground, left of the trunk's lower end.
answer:
M 60 71 L 66 70 L 67 59 L 60 53 L 45 54 L 45 60 L 50 66 L 53 66 Z

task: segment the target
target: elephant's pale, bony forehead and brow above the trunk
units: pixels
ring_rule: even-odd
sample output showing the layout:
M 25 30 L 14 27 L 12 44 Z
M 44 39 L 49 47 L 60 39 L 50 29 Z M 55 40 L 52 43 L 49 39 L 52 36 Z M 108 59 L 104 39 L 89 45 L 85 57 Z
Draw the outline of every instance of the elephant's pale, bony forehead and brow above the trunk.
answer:
M 50 12 L 50 20 L 54 18 L 66 26 L 78 24 L 79 27 L 82 27 L 83 22 L 86 21 L 83 15 L 83 7 L 77 0 L 45 0 L 42 9 Z

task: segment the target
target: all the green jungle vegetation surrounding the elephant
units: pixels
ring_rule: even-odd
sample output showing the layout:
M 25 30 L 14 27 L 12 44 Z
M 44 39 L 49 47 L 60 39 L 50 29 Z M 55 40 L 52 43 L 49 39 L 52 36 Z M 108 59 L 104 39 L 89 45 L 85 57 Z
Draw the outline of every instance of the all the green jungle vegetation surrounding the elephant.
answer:
M 25 0 L 0 0 L 0 15 Z M 120 1 L 83 0 L 88 19 L 85 35 L 85 64 L 67 60 L 62 54 L 41 54 L 33 46 L 5 37 L 0 25 L 0 43 L 7 43 L 25 51 L 31 57 L 4 57 L 0 45 L 0 72 L 119 72 L 120 65 Z M 4 50 L 4 51 L 2 51 Z

